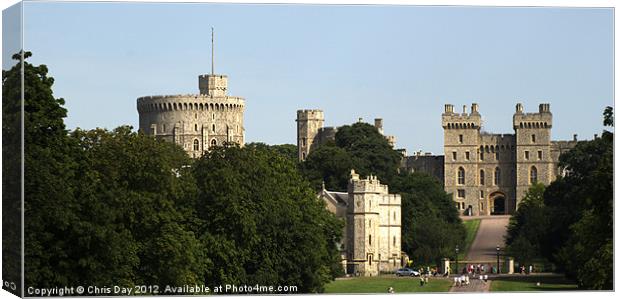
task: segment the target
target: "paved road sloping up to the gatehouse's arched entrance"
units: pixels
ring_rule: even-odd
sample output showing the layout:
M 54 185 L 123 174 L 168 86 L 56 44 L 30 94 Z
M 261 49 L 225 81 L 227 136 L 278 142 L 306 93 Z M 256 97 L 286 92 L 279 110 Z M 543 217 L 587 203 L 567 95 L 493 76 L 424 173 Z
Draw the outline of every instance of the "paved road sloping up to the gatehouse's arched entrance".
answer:
M 480 227 L 474 242 L 469 248 L 467 260 L 480 262 L 495 261 L 495 247 L 499 245 L 501 248 L 504 248 L 504 235 L 506 234 L 509 219 L 510 216 L 481 217 Z

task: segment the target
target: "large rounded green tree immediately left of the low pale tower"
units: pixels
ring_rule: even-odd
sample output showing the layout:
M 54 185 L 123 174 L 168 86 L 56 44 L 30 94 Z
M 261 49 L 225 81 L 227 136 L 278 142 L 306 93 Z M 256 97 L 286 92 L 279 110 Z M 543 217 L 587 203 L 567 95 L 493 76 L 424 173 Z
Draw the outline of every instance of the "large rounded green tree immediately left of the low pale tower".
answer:
M 261 146 L 216 148 L 193 172 L 200 238 L 218 244 L 208 281 L 320 292 L 336 275 L 342 223 L 290 159 Z

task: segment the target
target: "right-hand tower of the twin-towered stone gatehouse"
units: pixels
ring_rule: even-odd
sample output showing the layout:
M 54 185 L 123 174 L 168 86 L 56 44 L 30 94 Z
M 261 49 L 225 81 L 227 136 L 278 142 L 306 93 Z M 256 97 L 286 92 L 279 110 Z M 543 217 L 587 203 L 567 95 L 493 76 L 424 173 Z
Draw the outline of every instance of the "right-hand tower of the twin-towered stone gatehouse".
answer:
M 523 113 L 523 105 L 516 106 L 513 116 L 516 134 L 516 195 L 517 205 L 536 182 L 548 185 L 555 179 L 551 155 L 552 115 L 549 104 L 540 104 L 538 113 Z

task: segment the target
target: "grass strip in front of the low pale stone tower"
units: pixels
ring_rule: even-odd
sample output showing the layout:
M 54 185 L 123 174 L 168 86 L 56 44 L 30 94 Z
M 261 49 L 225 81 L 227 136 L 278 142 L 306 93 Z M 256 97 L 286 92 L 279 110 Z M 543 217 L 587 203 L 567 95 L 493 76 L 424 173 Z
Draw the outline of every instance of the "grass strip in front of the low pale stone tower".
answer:
M 421 287 L 418 277 L 356 277 L 332 281 L 325 286 L 325 293 L 387 293 L 389 287 L 395 293 L 411 292 L 447 292 L 452 285 L 450 280 L 431 278 L 428 284 Z

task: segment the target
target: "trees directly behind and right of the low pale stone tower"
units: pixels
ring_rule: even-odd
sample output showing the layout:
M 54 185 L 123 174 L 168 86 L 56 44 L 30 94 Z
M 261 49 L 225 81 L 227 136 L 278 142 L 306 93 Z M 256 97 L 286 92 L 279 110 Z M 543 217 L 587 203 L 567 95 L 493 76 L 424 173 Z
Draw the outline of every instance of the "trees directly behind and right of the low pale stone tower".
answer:
M 366 123 L 338 128 L 335 142 L 314 149 L 300 168 L 315 189 L 346 191 L 351 169 L 376 175 L 402 198 L 402 249 L 416 262 L 433 263 L 463 245 L 465 228 L 450 196 L 435 178 L 399 173 L 402 156 Z

